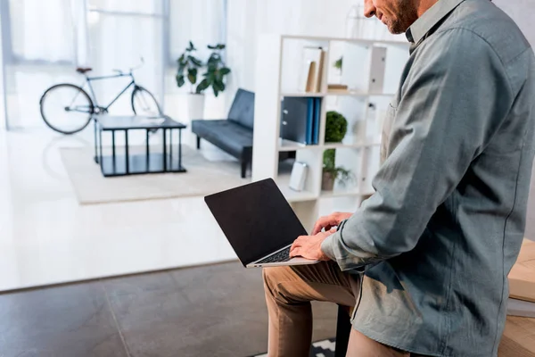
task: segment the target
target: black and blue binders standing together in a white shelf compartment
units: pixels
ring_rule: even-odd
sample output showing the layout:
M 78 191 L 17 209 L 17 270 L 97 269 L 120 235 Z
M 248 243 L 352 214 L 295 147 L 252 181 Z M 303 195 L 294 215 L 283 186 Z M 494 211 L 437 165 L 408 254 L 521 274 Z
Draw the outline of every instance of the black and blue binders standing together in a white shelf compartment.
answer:
M 284 97 L 280 137 L 304 145 L 317 145 L 321 98 Z

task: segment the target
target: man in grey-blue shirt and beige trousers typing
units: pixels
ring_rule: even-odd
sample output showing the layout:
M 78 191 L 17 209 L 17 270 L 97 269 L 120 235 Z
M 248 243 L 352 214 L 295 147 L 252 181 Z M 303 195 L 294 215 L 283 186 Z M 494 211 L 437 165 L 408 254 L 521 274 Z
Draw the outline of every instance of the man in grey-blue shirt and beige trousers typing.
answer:
M 376 192 L 292 245 L 325 262 L 264 270 L 269 356 L 308 356 L 312 300 L 354 306 L 348 356 L 496 356 L 525 228 L 533 52 L 489 0 L 365 3 L 412 43 Z

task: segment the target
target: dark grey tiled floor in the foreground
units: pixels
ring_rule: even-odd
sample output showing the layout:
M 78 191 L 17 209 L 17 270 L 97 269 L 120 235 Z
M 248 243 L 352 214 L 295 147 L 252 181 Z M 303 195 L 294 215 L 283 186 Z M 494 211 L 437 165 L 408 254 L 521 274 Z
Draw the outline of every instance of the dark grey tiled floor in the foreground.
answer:
M 314 304 L 315 339 L 336 311 Z M 261 270 L 238 262 L 0 295 L 1 357 L 245 357 L 267 342 Z

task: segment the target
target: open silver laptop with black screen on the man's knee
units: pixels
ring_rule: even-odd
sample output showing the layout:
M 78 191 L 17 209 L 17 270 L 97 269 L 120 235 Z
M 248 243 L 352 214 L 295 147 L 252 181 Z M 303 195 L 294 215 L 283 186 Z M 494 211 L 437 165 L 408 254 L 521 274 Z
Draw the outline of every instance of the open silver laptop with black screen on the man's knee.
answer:
M 315 264 L 290 258 L 290 247 L 309 234 L 273 179 L 204 197 L 219 227 L 246 268 Z

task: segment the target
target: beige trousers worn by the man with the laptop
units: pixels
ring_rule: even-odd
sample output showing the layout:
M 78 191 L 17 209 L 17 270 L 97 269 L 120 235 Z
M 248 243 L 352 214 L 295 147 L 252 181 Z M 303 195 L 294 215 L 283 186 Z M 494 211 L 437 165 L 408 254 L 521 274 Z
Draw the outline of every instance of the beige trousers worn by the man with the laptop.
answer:
M 311 301 L 353 307 L 358 278 L 335 262 L 265 268 L 264 288 L 269 313 L 269 357 L 309 357 L 312 340 Z M 382 345 L 351 329 L 348 357 L 411 357 L 415 354 Z

